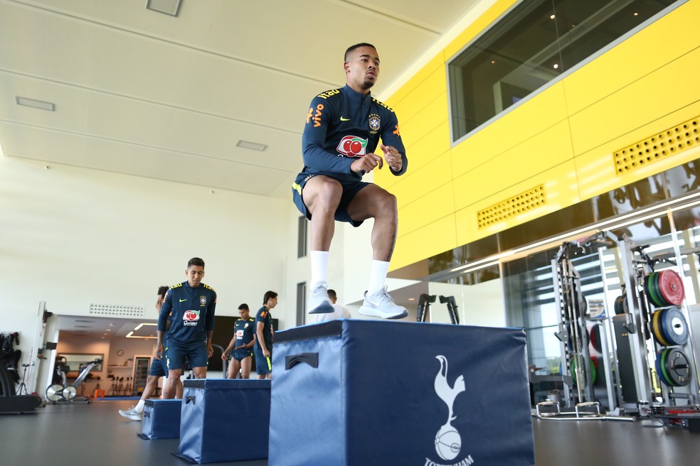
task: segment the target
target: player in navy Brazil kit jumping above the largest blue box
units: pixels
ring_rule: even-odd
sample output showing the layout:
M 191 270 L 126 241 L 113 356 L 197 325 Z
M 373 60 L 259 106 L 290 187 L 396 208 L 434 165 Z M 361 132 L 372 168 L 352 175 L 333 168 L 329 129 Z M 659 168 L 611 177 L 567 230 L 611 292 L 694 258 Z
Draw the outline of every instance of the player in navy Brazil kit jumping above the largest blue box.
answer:
M 292 185 L 297 208 L 311 220 L 309 313 L 332 313 L 327 293 L 328 251 L 334 221 L 358 227 L 374 219 L 372 267 L 359 312 L 388 319 L 408 311 L 386 292 L 386 273 L 396 244 L 396 197 L 362 175 L 388 165 L 403 175 L 408 159 L 392 109 L 371 96 L 379 74 L 376 48 L 360 43 L 346 50 L 346 85 L 318 94 L 311 102 L 302 136 L 304 169 Z M 382 143 L 379 144 L 379 139 Z M 375 153 L 377 146 L 381 155 Z

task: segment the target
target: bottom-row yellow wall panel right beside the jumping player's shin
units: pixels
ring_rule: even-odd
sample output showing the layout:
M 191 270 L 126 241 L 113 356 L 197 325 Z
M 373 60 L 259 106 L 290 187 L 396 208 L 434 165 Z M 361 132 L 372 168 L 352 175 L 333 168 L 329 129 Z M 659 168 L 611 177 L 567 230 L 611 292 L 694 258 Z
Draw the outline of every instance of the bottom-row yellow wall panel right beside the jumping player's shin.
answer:
M 391 258 L 391 270 L 413 264 L 419 260 L 415 259 L 417 256 L 425 259 L 457 247 L 454 214 L 408 234 L 401 234 L 401 219 L 399 222 L 399 237 L 396 239 L 396 249 Z

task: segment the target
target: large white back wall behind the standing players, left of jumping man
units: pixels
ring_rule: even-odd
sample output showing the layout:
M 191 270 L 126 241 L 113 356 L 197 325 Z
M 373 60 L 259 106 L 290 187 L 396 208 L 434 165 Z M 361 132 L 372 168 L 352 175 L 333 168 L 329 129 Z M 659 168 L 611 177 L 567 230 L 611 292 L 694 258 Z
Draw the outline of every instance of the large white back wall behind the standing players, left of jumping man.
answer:
M 0 331 L 21 332 L 24 363 L 42 300 L 55 314 L 88 315 L 90 303 L 149 314 L 157 287 L 184 281 L 193 256 L 206 261 L 218 315 L 285 286 L 290 200 L 44 167 L 0 155 Z M 290 306 L 281 295 L 282 328 Z

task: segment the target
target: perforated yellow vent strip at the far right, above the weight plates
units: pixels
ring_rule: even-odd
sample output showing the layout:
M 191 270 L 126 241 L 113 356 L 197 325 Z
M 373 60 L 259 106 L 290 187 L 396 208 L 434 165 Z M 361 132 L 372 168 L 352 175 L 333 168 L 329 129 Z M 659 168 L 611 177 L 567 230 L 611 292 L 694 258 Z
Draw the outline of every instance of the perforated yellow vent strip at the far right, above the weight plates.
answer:
M 627 173 L 700 143 L 699 126 L 700 116 L 696 116 L 674 128 L 616 151 L 612 154 L 615 173 L 617 175 Z

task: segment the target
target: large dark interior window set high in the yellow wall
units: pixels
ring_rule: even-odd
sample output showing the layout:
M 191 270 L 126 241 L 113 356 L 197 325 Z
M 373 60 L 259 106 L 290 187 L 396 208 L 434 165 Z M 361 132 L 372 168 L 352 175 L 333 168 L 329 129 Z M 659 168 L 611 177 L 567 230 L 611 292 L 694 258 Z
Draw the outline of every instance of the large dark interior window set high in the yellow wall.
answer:
M 682 1 L 524 0 L 448 65 L 457 141 Z

